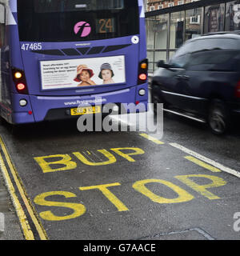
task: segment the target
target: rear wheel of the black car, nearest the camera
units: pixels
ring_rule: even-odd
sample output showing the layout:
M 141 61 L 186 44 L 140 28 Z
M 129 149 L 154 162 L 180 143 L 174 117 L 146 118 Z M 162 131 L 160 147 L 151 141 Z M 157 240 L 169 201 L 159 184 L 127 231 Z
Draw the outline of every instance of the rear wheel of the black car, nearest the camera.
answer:
M 229 128 L 229 117 L 226 106 L 220 100 L 214 100 L 210 105 L 208 123 L 214 134 L 225 134 Z

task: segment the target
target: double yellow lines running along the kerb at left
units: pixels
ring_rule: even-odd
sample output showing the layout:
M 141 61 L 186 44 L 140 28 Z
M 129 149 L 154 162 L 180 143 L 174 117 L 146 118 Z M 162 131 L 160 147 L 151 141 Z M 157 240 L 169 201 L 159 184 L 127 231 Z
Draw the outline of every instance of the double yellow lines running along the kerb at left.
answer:
M 16 184 L 16 186 L 18 187 L 18 191 L 19 191 L 19 194 L 21 195 L 22 197 L 22 200 L 23 202 L 25 203 L 25 206 L 26 206 L 26 209 L 28 211 L 28 213 L 30 214 L 30 218 L 32 219 L 32 221 L 34 222 L 34 226 L 36 227 L 36 230 L 38 231 L 38 234 L 39 234 L 39 237 L 41 238 L 41 240 L 46 240 L 47 239 L 47 236 L 46 236 L 46 231 L 43 229 L 42 225 L 40 225 L 40 223 L 38 222 L 38 219 L 36 218 L 35 214 L 34 214 L 34 211 L 32 209 L 32 206 L 30 206 L 30 202 L 29 200 L 26 198 L 26 194 L 25 194 L 25 191 L 23 190 L 22 188 L 22 184 L 18 178 L 18 174 L 16 173 L 16 170 L 14 168 L 14 165 L 12 164 L 12 162 L 10 161 L 10 156 L 6 150 L 6 146 L 4 145 L 4 142 L 2 141 L 2 138 L 0 136 L 0 144 L 2 146 L 2 151 L 6 157 L 6 162 L 10 168 L 10 171 L 11 171 L 11 174 L 13 175 L 13 178 L 14 178 L 14 182 Z M 3 160 L 1 159 L 1 162 L 2 162 L 2 169 L 6 169 L 6 166 L 4 167 L 4 162 Z M 9 177 L 9 174 L 7 174 L 7 170 L 5 170 L 5 173 L 6 175 L 8 175 Z M 10 177 L 9 177 L 10 178 Z M 11 186 L 13 186 L 12 182 L 10 181 L 10 184 Z M 14 186 L 13 186 L 13 189 L 14 189 Z M 10 194 L 12 194 L 11 192 L 13 190 L 12 188 L 10 189 Z M 18 197 L 16 196 L 16 194 L 12 194 L 12 196 L 15 198 L 14 200 L 18 200 Z M 17 204 L 19 203 L 19 201 L 17 202 Z M 21 205 L 20 205 L 21 206 Z M 30 235 L 30 233 L 32 234 L 32 231 L 29 230 L 29 226 L 27 226 L 27 220 L 26 220 L 26 215 L 22 215 L 22 207 L 19 209 L 19 207 L 16 207 L 16 211 L 18 213 L 18 218 L 22 224 L 22 230 L 25 234 L 25 237 L 26 239 L 31 239 L 31 240 L 34 240 L 34 237 L 32 237 Z M 23 225 L 24 224 L 24 225 Z

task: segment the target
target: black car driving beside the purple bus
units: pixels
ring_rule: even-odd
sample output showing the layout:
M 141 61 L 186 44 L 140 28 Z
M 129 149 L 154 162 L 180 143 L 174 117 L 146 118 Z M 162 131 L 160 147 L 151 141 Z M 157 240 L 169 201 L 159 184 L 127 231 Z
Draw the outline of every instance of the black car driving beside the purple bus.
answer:
M 214 134 L 240 117 L 240 32 L 190 39 L 158 67 L 151 97 L 164 110 L 208 122 Z

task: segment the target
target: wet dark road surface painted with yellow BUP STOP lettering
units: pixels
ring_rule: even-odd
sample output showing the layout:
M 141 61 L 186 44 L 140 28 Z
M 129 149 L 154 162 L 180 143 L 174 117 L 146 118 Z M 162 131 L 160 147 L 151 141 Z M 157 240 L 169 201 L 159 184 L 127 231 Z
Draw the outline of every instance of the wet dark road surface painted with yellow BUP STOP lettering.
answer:
M 239 239 L 238 129 L 217 137 L 166 114 L 163 137 L 149 135 L 79 133 L 75 121 L 2 126 L 24 238 Z

